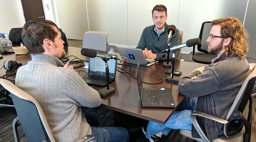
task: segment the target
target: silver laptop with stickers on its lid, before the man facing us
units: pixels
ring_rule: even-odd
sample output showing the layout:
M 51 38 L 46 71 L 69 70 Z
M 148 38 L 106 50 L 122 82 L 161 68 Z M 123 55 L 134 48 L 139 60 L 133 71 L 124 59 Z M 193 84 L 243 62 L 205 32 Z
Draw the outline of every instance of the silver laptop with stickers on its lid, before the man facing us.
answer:
M 159 61 L 155 62 L 155 60 L 151 60 L 151 59 L 146 59 L 141 49 L 119 47 L 119 46 L 116 46 L 116 48 L 120 56 L 122 57 L 122 60 L 131 64 L 137 65 L 139 62 L 140 65 L 149 67 L 159 62 Z

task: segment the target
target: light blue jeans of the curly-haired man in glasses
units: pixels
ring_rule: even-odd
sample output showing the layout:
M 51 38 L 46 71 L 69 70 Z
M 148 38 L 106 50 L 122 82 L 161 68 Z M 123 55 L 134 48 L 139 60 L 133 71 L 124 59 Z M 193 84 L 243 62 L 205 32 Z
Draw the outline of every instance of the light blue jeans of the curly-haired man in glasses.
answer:
M 196 109 L 195 100 L 196 98 L 186 97 L 178 107 L 177 111 L 172 114 L 172 116 L 165 123 L 165 125 L 149 121 L 146 130 L 146 138 L 154 136 L 160 131 L 167 136 L 171 129 L 182 129 L 191 131 L 192 121 L 190 119 L 190 114 Z M 223 134 L 224 132 L 220 131 L 219 135 Z

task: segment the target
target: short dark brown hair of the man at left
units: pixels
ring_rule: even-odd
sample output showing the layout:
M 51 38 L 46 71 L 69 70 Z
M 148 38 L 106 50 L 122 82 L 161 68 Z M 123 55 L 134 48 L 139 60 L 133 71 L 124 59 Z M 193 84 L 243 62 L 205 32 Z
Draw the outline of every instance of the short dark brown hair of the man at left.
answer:
M 49 20 L 31 20 L 26 22 L 22 29 L 21 38 L 28 51 L 32 54 L 44 53 L 42 47 L 44 39 L 54 42 L 58 35 L 54 27 L 59 30 L 58 26 Z

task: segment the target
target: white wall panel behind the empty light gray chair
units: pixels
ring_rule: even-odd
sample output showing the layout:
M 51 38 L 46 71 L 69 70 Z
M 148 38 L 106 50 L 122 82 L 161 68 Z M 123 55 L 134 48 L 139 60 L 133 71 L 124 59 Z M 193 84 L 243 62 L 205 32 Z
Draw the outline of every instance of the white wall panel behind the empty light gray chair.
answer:
M 108 33 L 108 43 L 128 45 L 127 0 L 87 0 L 90 31 Z

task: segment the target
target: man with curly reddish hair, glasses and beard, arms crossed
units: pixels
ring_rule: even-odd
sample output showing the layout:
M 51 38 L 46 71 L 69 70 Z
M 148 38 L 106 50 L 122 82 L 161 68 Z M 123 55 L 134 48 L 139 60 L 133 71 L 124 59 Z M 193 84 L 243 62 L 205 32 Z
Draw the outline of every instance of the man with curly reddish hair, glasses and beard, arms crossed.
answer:
M 161 140 L 171 129 L 192 130 L 194 138 L 201 138 L 194 128 L 190 114 L 196 110 L 225 119 L 242 84 L 249 76 L 248 34 L 237 18 L 227 17 L 212 22 L 206 40 L 208 52 L 217 58 L 207 67 L 194 69 L 178 84 L 178 92 L 186 98 L 165 125 L 149 122 L 143 129 L 151 142 Z M 223 124 L 199 117 L 201 129 L 210 141 L 223 135 Z

